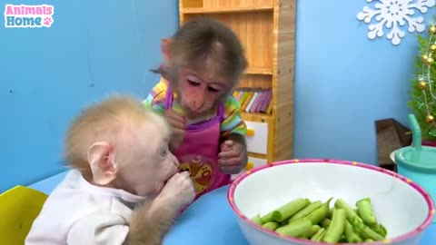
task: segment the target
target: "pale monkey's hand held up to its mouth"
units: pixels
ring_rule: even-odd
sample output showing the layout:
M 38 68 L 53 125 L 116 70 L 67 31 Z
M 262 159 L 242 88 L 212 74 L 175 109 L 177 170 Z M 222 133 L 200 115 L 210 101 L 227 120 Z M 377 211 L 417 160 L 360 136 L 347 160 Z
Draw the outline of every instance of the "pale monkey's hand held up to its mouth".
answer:
M 154 205 L 170 205 L 180 210 L 195 198 L 193 180 L 188 171 L 178 172 L 166 183 L 161 193 L 156 197 Z M 157 203 L 157 204 L 156 204 Z

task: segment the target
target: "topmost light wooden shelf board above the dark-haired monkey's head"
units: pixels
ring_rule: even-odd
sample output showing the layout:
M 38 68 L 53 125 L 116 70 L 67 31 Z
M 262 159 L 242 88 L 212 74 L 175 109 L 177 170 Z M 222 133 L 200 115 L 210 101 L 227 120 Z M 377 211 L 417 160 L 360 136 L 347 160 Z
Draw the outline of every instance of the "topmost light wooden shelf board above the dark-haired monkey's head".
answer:
M 224 7 L 188 7 L 183 8 L 183 14 L 224 14 L 272 11 L 273 5 L 260 6 L 224 6 Z

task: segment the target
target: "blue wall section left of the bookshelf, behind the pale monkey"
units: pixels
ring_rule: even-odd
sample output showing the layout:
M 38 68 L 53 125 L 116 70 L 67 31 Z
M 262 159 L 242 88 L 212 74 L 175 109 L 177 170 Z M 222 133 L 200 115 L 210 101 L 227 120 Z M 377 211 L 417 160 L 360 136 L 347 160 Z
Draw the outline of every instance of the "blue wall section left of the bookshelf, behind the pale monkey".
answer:
M 113 92 L 144 97 L 177 1 L 8 1 L 54 5 L 50 28 L 6 29 L 0 5 L 0 191 L 62 171 L 68 122 Z

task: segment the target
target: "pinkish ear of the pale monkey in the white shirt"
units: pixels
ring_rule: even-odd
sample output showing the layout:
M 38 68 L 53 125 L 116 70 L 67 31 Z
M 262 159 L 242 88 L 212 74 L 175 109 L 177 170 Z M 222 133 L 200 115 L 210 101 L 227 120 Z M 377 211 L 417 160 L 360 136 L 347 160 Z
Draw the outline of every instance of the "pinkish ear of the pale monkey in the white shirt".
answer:
M 114 181 L 117 172 L 114 160 L 114 147 L 109 142 L 95 142 L 89 147 L 88 162 L 95 183 L 104 185 Z

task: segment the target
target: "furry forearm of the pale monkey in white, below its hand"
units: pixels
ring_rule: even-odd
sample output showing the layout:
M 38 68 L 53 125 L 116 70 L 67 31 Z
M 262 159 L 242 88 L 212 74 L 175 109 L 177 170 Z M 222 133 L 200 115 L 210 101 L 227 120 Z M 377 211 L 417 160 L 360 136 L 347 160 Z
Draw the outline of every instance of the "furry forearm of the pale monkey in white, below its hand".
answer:
M 161 245 L 163 235 L 177 216 L 172 205 L 162 202 L 144 203 L 134 211 L 130 232 L 123 245 Z

